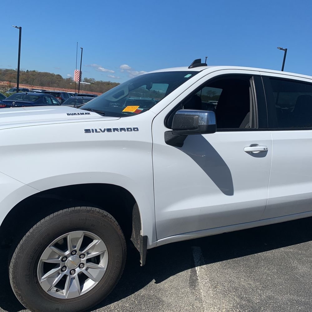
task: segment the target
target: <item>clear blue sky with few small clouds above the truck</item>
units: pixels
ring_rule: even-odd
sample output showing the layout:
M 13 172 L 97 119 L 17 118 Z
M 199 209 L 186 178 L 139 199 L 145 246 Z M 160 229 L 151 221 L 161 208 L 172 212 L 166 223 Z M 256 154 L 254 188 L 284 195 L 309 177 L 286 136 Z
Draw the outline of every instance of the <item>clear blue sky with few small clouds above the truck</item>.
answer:
M 123 82 L 144 71 L 233 65 L 312 75 L 312 1 L 2 1 L 0 68 Z

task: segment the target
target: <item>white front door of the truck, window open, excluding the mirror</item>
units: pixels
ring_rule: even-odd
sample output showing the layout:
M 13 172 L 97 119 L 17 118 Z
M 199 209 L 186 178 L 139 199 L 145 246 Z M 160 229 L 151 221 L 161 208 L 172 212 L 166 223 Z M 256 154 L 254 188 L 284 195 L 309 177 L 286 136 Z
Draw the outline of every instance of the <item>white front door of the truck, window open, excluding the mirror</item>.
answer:
M 258 90 L 259 89 L 259 90 Z M 179 109 L 213 110 L 217 132 L 166 144 Z M 261 218 L 267 202 L 271 134 L 259 72 L 207 75 L 152 124 L 157 239 Z M 198 232 L 202 236 L 202 232 Z

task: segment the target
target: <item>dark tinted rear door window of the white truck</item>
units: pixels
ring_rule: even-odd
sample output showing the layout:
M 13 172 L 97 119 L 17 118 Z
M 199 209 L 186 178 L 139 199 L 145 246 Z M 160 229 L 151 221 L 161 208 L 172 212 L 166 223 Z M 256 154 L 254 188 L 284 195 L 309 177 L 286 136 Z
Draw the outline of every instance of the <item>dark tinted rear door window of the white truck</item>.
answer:
M 312 84 L 265 78 L 270 128 L 312 127 Z

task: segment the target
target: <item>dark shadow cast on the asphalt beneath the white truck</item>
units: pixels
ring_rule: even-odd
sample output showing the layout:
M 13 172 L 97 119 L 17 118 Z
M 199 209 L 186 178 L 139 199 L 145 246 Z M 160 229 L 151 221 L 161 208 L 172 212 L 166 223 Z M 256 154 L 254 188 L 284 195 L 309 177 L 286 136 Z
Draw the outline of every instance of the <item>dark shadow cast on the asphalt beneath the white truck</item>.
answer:
M 154 280 L 155 283 L 161 283 L 179 272 L 194 268 L 191 246 L 202 249 L 204 264 L 207 265 L 312 241 L 311 223 L 312 217 L 160 246 L 148 251 L 146 265 L 143 267 L 139 265 L 138 253 L 130 250 L 119 283 L 94 309 L 126 298 Z M 6 259 L 1 257 L 0 307 L 9 312 L 18 312 L 24 307 L 11 290 L 6 268 Z

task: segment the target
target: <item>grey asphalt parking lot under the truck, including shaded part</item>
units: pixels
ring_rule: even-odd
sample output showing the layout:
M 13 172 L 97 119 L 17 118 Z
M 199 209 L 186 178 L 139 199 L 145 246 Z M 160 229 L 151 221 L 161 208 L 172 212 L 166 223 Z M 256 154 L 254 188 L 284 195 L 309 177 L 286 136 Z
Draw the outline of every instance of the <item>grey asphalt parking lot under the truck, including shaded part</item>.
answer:
M 4 251 L 4 250 L 2 250 Z M 1 262 L 3 257 L 1 257 Z M 0 311 L 26 312 L 0 265 Z M 93 311 L 311 311 L 312 218 L 130 251 Z

